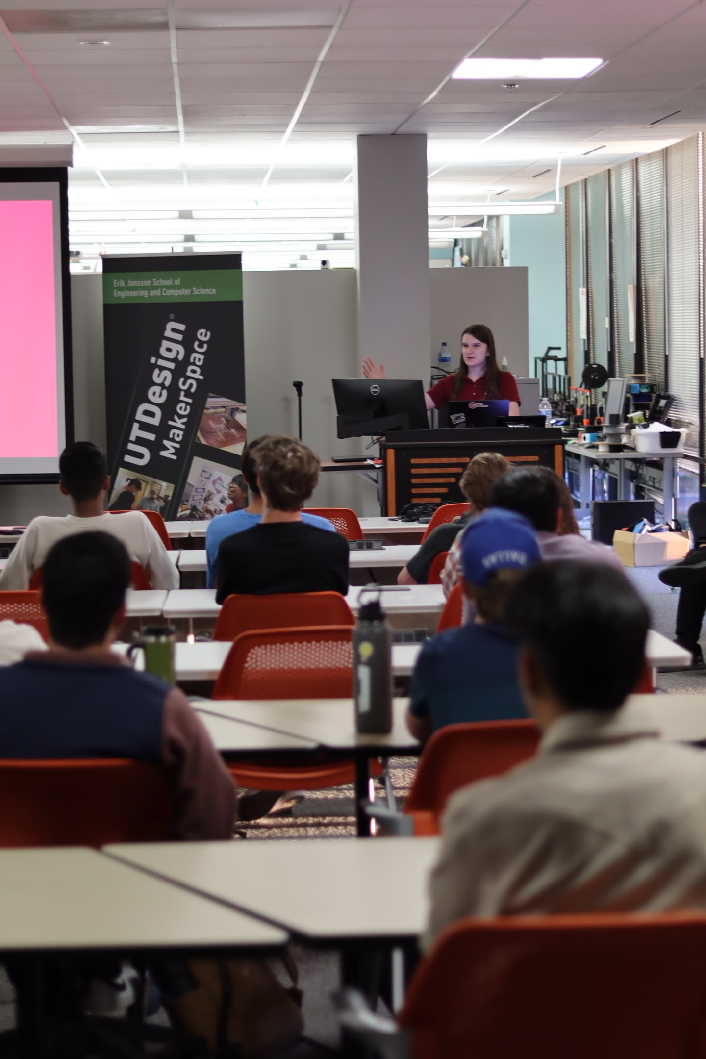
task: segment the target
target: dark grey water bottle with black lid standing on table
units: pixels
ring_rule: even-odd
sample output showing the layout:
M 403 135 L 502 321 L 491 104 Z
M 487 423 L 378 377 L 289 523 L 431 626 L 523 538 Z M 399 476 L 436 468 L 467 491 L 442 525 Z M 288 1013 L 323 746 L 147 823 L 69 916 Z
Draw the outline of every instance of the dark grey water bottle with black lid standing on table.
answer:
M 352 630 L 357 732 L 393 726 L 393 634 L 376 591 L 378 598 L 362 604 Z

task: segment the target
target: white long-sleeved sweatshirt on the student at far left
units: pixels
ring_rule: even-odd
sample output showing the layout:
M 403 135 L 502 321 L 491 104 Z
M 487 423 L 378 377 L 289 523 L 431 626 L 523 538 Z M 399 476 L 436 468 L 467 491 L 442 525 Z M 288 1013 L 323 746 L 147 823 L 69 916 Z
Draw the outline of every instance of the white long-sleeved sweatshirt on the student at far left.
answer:
M 52 544 L 86 530 L 102 530 L 122 540 L 130 559 L 144 567 L 153 589 L 179 588 L 179 571 L 149 519 L 142 511 L 127 511 L 125 515 L 106 513 L 90 519 L 79 519 L 75 515 L 65 518 L 40 515 L 33 519 L 0 574 L 0 591 L 29 589 L 32 575 L 43 564 Z

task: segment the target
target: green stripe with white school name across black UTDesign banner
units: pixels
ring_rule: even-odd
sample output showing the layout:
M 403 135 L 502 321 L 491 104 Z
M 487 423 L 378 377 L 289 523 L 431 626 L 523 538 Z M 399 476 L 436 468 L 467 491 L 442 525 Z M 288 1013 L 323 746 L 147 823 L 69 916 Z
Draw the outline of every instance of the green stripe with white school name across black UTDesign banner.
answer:
M 160 272 L 103 273 L 104 305 L 241 301 L 242 272 L 237 268 L 203 272 L 169 269 Z

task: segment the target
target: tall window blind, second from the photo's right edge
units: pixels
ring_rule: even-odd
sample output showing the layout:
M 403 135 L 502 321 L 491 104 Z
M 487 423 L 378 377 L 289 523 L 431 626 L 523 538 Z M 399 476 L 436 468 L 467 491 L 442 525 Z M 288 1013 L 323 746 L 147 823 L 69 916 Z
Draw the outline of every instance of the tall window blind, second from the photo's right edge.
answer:
M 665 152 L 637 159 L 639 319 L 649 382 L 665 388 Z

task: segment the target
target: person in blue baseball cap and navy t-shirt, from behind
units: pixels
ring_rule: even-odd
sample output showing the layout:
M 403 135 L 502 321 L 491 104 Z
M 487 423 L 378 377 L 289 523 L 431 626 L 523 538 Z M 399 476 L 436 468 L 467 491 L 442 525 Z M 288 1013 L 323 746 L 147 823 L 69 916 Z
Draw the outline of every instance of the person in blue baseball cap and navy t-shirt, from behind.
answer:
M 526 717 L 517 641 L 505 627 L 508 594 L 539 560 L 531 526 L 510 511 L 485 511 L 461 540 L 464 592 L 475 620 L 428 640 L 412 675 L 408 728 L 427 739 L 445 724 Z

